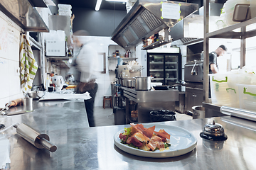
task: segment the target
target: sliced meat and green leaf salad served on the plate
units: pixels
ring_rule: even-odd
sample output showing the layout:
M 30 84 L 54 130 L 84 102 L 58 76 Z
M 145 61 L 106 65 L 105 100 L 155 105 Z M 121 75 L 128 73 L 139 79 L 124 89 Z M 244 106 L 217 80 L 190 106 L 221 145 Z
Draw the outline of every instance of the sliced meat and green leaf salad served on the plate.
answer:
M 164 151 L 171 146 L 171 135 L 164 131 L 164 129 L 156 132 L 156 126 L 144 128 L 142 124 L 135 125 L 130 123 L 130 125 L 131 127 L 124 128 L 124 132 L 119 134 L 122 144 L 145 151 L 156 151 L 157 149 Z

